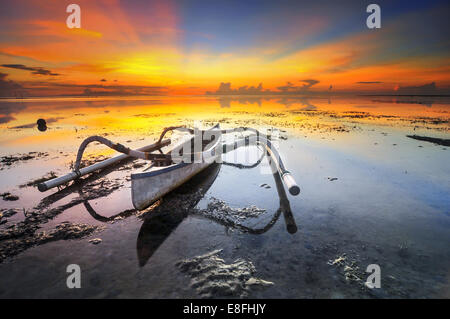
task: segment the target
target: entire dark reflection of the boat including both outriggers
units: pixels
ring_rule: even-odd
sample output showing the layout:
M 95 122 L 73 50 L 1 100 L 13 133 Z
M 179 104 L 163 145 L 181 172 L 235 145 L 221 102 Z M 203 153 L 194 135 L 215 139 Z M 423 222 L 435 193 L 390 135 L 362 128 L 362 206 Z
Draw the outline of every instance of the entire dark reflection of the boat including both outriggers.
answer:
M 161 244 L 170 236 L 170 234 L 189 214 L 196 214 L 198 212 L 194 208 L 216 180 L 221 165 L 229 165 L 238 169 L 251 169 L 257 167 L 261 163 L 263 157 L 264 153 L 262 154 L 261 158 L 253 165 L 234 164 L 227 162 L 223 162 L 221 164 L 212 164 L 211 166 L 194 176 L 192 179 L 190 179 L 171 193 L 167 194 L 160 201 L 160 204 L 157 207 L 151 209 L 149 212 L 143 215 L 144 222 L 139 230 L 136 244 L 139 266 L 145 266 L 145 264 L 161 246 Z M 270 161 L 270 157 L 268 157 L 268 159 Z M 77 192 L 80 195 L 80 201 L 73 201 L 69 204 L 63 205 L 60 213 L 82 203 L 87 212 L 94 219 L 100 222 L 107 223 L 115 220 L 118 217 L 127 218 L 135 215 L 136 210 L 129 209 L 113 216 L 102 216 L 101 214 L 98 214 L 89 204 L 89 200 L 108 196 L 109 192 L 106 192 L 105 194 L 98 194 L 92 197 L 83 192 L 83 188 L 87 184 L 98 180 L 100 177 L 108 175 L 113 170 L 114 168 L 108 168 L 100 172 L 99 174 L 90 176 L 88 178 L 85 178 L 84 180 L 79 180 L 77 183 L 74 183 L 69 187 L 61 189 L 59 192 L 44 198 L 40 202 L 38 207 L 48 206 L 70 194 Z M 289 200 L 287 198 L 287 194 L 278 171 L 275 170 L 273 177 L 275 180 L 278 197 L 280 199 L 280 207 L 274 213 L 272 219 L 264 227 L 251 228 L 239 223 L 232 222 L 230 220 L 214 218 L 214 216 L 200 216 L 202 218 L 208 218 L 228 228 L 234 228 L 245 233 L 259 235 L 270 230 L 277 222 L 281 214 L 283 214 L 287 231 L 291 234 L 297 232 L 297 225 L 295 223 Z

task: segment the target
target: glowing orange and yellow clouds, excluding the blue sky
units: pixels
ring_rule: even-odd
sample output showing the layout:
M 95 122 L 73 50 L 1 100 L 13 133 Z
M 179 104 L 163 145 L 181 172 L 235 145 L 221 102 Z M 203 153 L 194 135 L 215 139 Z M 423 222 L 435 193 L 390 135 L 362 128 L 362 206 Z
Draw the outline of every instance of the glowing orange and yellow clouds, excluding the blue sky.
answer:
M 55 3 L 30 0 L 31 18 L 28 12 L 8 20 L 8 28 L 1 31 L 6 40 L 0 44 L 8 61 L 2 64 L 52 70 L 60 83 L 68 85 L 91 85 L 105 78 L 128 86 L 169 87 L 170 93 L 180 94 L 214 91 L 220 82 L 234 87 L 262 82 L 264 88 L 276 90 L 286 82 L 298 85 L 302 79 L 320 81 L 311 91 L 328 91 L 330 86 L 333 91 L 393 91 L 396 85 L 432 82 L 450 86 L 450 59 L 445 54 L 389 54 L 402 19 L 377 32 L 347 33 L 307 45 L 308 39 L 332 27 L 328 20 L 302 17 L 274 40 L 264 33 L 271 26 L 264 17 L 265 31 L 251 45 L 218 52 L 208 41 L 189 49 L 180 44 L 188 31 L 180 29 L 177 9 L 170 1 L 148 1 L 142 10 L 130 11 L 118 0 L 80 0 L 81 29 L 68 29 L 65 4 Z M 202 37 L 214 39 L 205 31 Z M 8 76 L 14 81 L 38 81 L 18 69 L 8 69 Z

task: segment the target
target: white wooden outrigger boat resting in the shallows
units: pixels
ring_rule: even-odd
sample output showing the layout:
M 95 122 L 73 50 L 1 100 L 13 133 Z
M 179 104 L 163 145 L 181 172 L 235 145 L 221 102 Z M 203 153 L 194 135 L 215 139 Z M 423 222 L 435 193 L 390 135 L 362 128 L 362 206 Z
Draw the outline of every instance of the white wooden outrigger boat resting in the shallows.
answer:
M 161 149 L 171 144 L 170 139 L 164 139 L 165 134 L 175 130 L 190 133 L 189 138 L 184 139 L 169 152 L 163 153 Z M 222 134 L 243 131 L 248 131 L 253 134 L 231 144 L 224 144 L 222 142 Z M 92 142 L 104 144 L 122 153 L 122 155 L 80 168 L 83 152 L 88 144 Z M 150 161 L 151 164 L 144 171 L 131 175 L 131 197 L 134 207 L 138 210 L 143 210 L 155 200 L 179 187 L 212 163 L 220 162 L 222 154 L 248 145 L 262 145 L 265 147 L 271 159 L 271 167 L 276 168 L 275 171 L 278 171 L 289 192 L 292 195 L 298 195 L 300 193 L 300 188 L 285 168 L 278 151 L 270 142 L 270 138 L 252 128 L 244 127 L 223 130 L 220 129 L 218 124 L 204 131 L 185 127 L 169 127 L 164 129 L 156 143 L 137 150 L 132 150 L 101 136 L 88 137 L 80 145 L 73 172 L 40 183 L 38 189 L 40 191 L 46 191 L 50 188 L 67 184 L 72 180 L 77 180 L 83 175 L 117 164 L 130 157 L 140 158 Z M 154 151 L 158 151 L 158 153 L 153 153 Z

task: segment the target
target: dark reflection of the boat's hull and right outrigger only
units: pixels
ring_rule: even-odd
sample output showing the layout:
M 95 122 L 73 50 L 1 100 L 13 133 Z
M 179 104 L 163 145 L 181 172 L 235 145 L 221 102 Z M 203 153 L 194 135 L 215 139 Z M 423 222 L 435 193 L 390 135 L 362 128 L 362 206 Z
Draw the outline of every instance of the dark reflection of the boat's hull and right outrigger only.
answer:
M 262 158 L 261 158 L 262 159 Z M 241 164 L 228 164 L 223 163 L 223 165 L 232 165 L 239 169 L 245 168 L 253 168 L 259 165 L 261 159 L 254 165 L 245 166 Z M 161 246 L 161 244 L 170 236 L 170 234 L 177 228 L 177 226 L 187 217 L 188 214 L 195 214 L 196 210 L 193 208 L 198 204 L 201 198 L 206 194 L 208 189 L 211 187 L 213 182 L 215 181 L 222 164 L 214 164 L 209 168 L 205 169 L 199 175 L 195 176 L 192 180 L 182 185 L 180 188 L 175 190 L 175 193 L 191 193 L 191 194 L 199 194 L 200 196 L 195 197 L 192 202 L 188 203 L 189 209 L 184 210 L 176 210 L 173 209 L 164 209 L 161 207 L 161 214 L 153 214 L 150 212 L 144 219 L 144 223 L 141 226 L 139 231 L 139 235 L 137 238 L 137 255 L 139 260 L 139 265 L 141 267 L 145 266 L 151 256 L 156 252 L 156 250 Z M 244 226 L 242 224 L 238 224 L 229 220 L 223 220 L 219 218 L 214 218 L 212 216 L 203 216 L 208 218 L 216 223 L 224 225 L 228 228 L 235 228 L 239 231 L 246 232 L 249 234 L 259 235 L 267 232 L 269 229 L 275 225 L 278 218 L 281 214 L 284 216 L 284 220 L 286 223 L 287 231 L 291 234 L 297 232 L 297 225 L 295 223 L 294 216 L 292 215 L 291 207 L 289 204 L 289 200 L 286 195 L 286 191 L 284 189 L 281 177 L 279 173 L 276 171 L 273 174 L 275 179 L 275 183 L 277 186 L 278 196 L 280 198 L 280 207 L 275 212 L 273 218 L 267 223 L 266 226 L 262 228 L 251 228 Z M 173 193 L 174 193 L 173 192 Z M 173 194 L 169 194 L 171 196 Z M 163 205 L 170 205 L 170 199 L 164 201 Z

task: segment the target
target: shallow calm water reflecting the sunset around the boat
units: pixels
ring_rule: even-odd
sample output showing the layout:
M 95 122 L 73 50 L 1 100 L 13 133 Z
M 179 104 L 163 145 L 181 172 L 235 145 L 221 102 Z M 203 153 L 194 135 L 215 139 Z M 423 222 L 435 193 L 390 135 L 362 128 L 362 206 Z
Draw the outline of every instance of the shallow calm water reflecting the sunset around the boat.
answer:
M 152 211 L 144 216 L 131 210 L 129 175 L 134 168 L 128 163 L 92 181 L 90 188 L 89 184 L 72 188 L 58 200 L 53 195 L 39 205 L 39 211 L 58 207 L 61 211 L 38 223 L 37 232 L 51 231 L 64 221 L 104 229 L 5 258 L 0 263 L 1 298 L 205 297 L 192 285 L 195 278 L 177 263 L 217 249 L 225 264 L 242 258 L 253 264 L 254 276 L 273 283 L 249 287 L 245 295 L 231 297 L 450 296 L 449 148 L 406 137 L 449 139 L 450 100 L 446 98 L 24 99 L 1 100 L 2 117 L 2 157 L 45 152 L 9 166 L 1 164 L 0 193 L 19 196 L 17 201 L 0 199 L 2 209 L 33 210 L 44 197 L 55 194 L 57 190 L 40 193 L 21 185 L 50 171 L 68 172 L 78 145 L 87 136 L 107 134 L 114 141 L 139 147 L 156 139 L 163 127 L 180 123 L 220 122 L 223 127 L 281 130 L 276 143 L 302 192 L 288 195 L 297 225 L 297 231 L 289 233 L 285 215 L 276 218 L 280 195 L 266 159 L 250 169 L 222 164 L 164 198 L 159 208 L 162 217 L 152 216 Z M 47 119 L 47 131 L 33 125 L 38 118 Z M 240 149 L 224 160 L 251 165 L 258 160 L 258 152 Z M 114 155 L 99 146 L 87 153 L 90 158 Z M 177 200 L 181 202 L 186 192 L 199 187 L 203 193 L 192 200 L 195 208 L 187 209 L 188 213 L 178 209 Z M 101 188 L 107 190 L 106 196 L 95 192 Z M 80 200 L 86 196 L 88 200 Z M 233 209 L 251 205 L 265 209 L 258 217 L 241 221 L 259 231 L 224 225 L 202 214 L 215 199 Z M 167 214 L 172 210 L 173 214 Z M 123 218 L 114 222 L 100 217 L 124 211 Z M 23 213 L 17 213 L 0 230 L 23 219 Z M 92 238 L 102 242 L 89 243 Z M 340 265 L 332 265 L 342 256 Z M 66 286 L 69 264 L 81 267 L 81 289 Z M 363 285 L 369 264 L 381 268 L 380 289 Z M 360 280 L 346 279 L 349 273 Z M 208 297 L 230 295 L 219 289 Z

